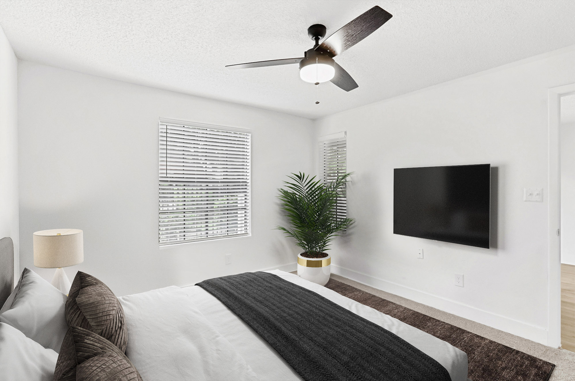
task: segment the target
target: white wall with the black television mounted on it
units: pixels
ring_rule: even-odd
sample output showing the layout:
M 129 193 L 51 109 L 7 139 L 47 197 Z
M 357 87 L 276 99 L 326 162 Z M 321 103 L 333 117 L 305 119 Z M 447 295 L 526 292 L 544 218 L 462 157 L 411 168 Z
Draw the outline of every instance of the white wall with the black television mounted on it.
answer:
M 317 120 L 317 137 L 347 131 L 355 172 L 334 271 L 547 343 L 547 203 L 523 188 L 547 188 L 547 89 L 575 82 L 574 63 L 563 50 Z M 394 168 L 482 163 L 499 170 L 497 248 L 393 234 Z

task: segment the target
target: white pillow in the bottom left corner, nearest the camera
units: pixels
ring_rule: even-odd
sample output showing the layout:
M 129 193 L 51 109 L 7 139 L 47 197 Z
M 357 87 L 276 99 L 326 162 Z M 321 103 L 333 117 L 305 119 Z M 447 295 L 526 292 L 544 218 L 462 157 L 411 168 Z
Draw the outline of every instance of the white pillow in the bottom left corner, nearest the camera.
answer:
M 0 323 L 0 380 L 52 381 L 58 354 Z

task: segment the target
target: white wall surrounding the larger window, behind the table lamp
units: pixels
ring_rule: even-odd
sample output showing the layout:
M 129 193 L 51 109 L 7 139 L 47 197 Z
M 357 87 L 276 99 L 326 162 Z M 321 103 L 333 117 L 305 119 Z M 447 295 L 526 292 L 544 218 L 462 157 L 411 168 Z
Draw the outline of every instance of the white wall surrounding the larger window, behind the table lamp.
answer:
M 273 230 L 285 175 L 313 166 L 311 120 L 157 90 L 27 61 L 18 68 L 20 267 L 33 266 L 32 233 L 84 231 L 85 262 L 68 267 L 118 295 L 296 261 Z M 158 246 L 158 119 L 252 130 L 252 235 Z M 232 253 L 232 264 L 224 255 Z

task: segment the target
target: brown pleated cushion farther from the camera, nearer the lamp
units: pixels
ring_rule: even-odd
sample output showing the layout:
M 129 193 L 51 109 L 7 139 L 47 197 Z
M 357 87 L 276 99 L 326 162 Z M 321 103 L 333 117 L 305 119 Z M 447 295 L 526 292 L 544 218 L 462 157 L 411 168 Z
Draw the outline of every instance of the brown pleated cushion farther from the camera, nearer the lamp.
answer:
M 66 322 L 68 326 L 79 326 L 97 333 L 122 353 L 126 350 L 128 328 L 122 305 L 108 286 L 82 271 L 78 271 L 70 287 Z

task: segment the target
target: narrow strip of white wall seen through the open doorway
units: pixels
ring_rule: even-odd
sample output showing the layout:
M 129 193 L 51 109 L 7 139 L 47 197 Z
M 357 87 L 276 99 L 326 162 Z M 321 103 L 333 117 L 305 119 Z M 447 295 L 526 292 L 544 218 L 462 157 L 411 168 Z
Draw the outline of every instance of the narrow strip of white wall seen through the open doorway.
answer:
M 575 265 L 575 123 L 559 126 L 561 137 L 561 263 Z

